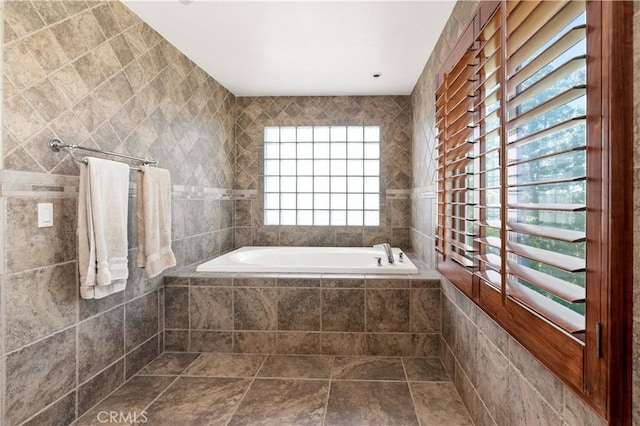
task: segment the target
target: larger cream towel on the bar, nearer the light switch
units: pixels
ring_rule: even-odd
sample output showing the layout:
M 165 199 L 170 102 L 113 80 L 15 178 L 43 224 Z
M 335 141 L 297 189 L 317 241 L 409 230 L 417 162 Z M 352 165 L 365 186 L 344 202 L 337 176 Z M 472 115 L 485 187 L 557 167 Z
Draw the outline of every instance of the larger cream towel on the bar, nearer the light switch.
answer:
M 78 263 L 83 299 L 101 299 L 127 284 L 128 196 L 128 165 L 93 157 L 80 165 Z

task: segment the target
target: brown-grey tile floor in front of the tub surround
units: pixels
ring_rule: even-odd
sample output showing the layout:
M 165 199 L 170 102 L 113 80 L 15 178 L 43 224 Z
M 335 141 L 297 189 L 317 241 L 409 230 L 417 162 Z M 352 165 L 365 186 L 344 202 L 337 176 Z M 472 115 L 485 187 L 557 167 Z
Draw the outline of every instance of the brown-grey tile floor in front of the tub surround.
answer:
M 472 424 L 438 358 L 213 353 L 162 354 L 75 424 L 105 423 Z

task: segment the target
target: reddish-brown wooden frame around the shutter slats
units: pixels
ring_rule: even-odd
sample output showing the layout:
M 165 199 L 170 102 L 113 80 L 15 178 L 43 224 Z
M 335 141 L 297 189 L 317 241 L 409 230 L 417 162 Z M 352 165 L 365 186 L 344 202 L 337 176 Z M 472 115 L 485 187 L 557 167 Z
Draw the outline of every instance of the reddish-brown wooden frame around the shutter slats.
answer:
M 480 3 L 469 27 L 441 67 L 439 82 L 458 64 L 470 42 L 501 4 L 506 7 L 507 2 Z M 443 251 L 436 252 L 436 259 L 437 269 L 444 277 L 598 415 L 609 424 L 626 425 L 631 423 L 632 404 L 633 3 L 588 0 L 586 9 L 587 150 L 592 155 L 587 156 L 588 285 L 584 342 L 568 336 L 523 305 L 505 303 L 503 293 L 481 285 L 468 268 L 443 256 Z M 500 31 L 504 40 L 504 30 Z M 500 78 L 501 88 L 505 88 L 506 73 L 501 72 Z M 436 107 L 437 104 L 436 101 Z M 446 225 L 440 219 L 438 222 L 439 226 Z

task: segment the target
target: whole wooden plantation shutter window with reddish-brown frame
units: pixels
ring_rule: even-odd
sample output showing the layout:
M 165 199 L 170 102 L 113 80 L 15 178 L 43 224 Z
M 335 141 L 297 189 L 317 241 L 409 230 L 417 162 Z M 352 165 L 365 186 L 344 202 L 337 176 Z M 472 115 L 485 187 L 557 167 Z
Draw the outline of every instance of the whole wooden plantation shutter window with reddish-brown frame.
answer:
M 630 283 L 613 283 L 630 276 L 614 232 L 630 215 L 613 206 L 632 193 L 631 65 L 610 26 L 631 39 L 629 16 L 619 2 L 481 2 L 435 104 L 438 270 L 614 420 L 630 407 L 614 361 L 630 362 Z

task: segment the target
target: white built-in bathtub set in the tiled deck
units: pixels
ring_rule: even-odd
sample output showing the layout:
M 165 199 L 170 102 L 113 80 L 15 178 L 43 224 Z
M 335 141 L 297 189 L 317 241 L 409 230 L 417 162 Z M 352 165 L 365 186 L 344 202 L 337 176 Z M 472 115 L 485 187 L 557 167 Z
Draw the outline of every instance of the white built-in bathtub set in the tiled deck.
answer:
M 198 265 L 197 272 L 282 272 L 337 274 L 417 274 L 418 268 L 404 255 L 394 264 L 384 250 L 375 247 L 242 247 Z M 377 265 L 382 258 L 382 266 Z

